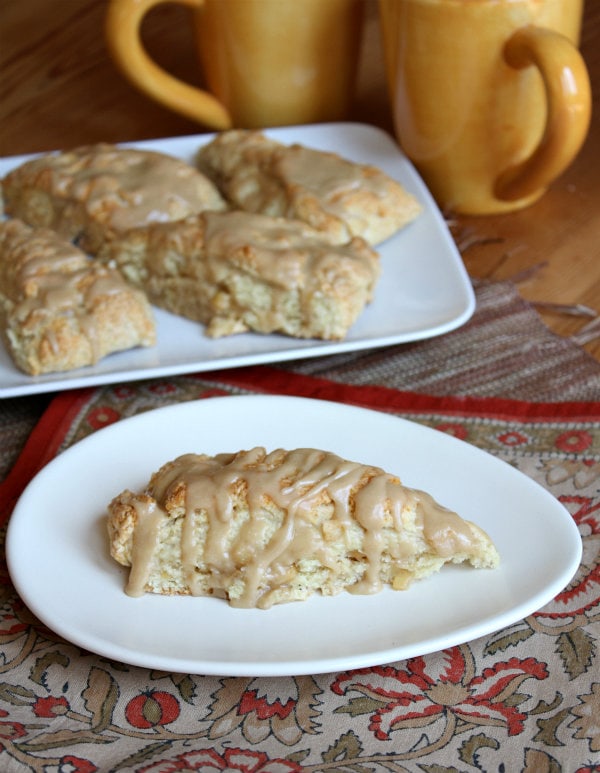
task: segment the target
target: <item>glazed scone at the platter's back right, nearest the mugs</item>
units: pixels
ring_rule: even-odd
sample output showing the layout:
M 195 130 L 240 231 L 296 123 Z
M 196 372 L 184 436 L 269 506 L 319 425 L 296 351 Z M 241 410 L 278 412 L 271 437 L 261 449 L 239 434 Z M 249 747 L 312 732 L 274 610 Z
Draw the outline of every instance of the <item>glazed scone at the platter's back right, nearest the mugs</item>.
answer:
M 218 134 L 200 148 L 197 163 L 233 207 L 302 220 L 335 243 L 360 236 L 376 245 L 421 211 L 412 194 L 374 166 L 284 145 L 259 131 Z

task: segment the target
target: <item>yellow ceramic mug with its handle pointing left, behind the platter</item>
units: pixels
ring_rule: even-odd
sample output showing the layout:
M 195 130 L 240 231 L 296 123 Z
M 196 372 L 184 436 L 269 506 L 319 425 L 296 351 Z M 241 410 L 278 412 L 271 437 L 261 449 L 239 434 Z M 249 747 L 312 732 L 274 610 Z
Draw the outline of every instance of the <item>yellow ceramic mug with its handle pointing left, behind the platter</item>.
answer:
M 164 1 L 111 0 L 108 7 L 109 50 L 146 94 L 213 129 L 346 117 L 362 0 L 175 0 L 193 9 L 208 90 L 167 73 L 143 48 L 143 18 Z

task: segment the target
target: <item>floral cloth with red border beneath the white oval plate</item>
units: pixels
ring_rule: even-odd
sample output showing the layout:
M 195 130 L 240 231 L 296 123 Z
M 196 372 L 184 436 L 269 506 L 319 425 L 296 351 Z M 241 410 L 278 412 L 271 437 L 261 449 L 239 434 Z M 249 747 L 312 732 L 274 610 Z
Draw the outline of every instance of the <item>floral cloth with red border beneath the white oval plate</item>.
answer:
M 157 406 L 256 393 L 384 410 L 504 459 L 572 514 L 584 544 L 576 577 L 537 613 L 443 652 L 344 673 L 218 678 L 114 663 L 61 640 L 3 564 L 0 769 L 599 771 L 600 402 L 435 396 L 268 367 L 64 393 L 0 486 L 4 527 L 35 471 L 86 435 Z M 60 568 L 49 558 L 38 570 Z

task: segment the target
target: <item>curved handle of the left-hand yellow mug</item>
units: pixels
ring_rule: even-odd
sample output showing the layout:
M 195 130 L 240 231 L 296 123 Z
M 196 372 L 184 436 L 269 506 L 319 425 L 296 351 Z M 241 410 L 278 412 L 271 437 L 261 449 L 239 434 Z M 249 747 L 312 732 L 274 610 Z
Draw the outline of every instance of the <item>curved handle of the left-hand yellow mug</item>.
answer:
M 196 9 L 204 3 L 204 0 L 174 1 Z M 112 58 L 137 88 L 158 102 L 213 129 L 231 129 L 231 116 L 216 97 L 170 75 L 145 52 L 140 39 L 143 18 L 151 8 L 163 2 L 165 0 L 111 0 L 105 32 Z

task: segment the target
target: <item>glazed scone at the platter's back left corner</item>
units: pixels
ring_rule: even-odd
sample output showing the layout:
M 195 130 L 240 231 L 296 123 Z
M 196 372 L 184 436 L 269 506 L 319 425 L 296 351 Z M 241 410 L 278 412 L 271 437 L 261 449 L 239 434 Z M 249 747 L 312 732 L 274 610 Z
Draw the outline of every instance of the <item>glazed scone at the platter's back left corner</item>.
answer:
M 92 254 L 129 228 L 226 208 L 193 166 L 109 144 L 33 158 L 9 172 L 2 187 L 8 215 L 77 240 Z

